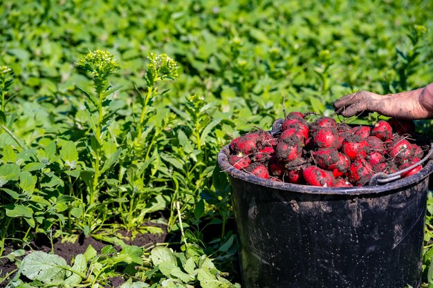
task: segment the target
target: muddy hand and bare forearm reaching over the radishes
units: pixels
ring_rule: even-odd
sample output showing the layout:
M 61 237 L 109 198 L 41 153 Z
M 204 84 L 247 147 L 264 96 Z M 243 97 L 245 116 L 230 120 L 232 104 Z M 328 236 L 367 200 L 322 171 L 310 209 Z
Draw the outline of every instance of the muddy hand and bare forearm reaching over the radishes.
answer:
M 433 83 L 424 88 L 387 95 L 360 91 L 338 99 L 333 106 L 344 117 L 368 111 L 398 119 L 432 118 Z

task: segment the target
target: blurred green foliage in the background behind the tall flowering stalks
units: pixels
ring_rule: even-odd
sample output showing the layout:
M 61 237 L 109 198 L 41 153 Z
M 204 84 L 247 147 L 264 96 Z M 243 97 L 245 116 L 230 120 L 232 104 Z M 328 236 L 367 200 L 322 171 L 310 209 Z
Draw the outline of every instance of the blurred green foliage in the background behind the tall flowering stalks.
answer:
M 8 1 L 0 57 L 20 98 L 47 101 L 89 85 L 79 56 L 107 48 L 117 83 L 142 84 L 142 59 L 165 52 L 181 66 L 164 104 L 199 93 L 225 117 L 269 126 L 291 110 L 324 113 L 344 93 L 389 93 L 432 81 L 431 1 Z M 416 44 L 415 25 L 428 32 Z M 416 59 L 410 59 L 417 52 Z M 126 87 L 125 87 L 125 90 Z M 126 96 L 125 96 L 126 97 Z M 43 100 L 44 99 L 44 100 Z M 245 126 L 248 124 L 248 126 Z M 229 131 L 231 132 L 231 131 Z

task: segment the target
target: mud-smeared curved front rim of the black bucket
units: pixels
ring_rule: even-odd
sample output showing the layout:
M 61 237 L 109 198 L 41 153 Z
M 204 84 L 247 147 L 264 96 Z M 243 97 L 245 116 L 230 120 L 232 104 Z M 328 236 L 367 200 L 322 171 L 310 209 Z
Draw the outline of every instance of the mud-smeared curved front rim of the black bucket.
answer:
M 433 148 L 431 148 L 433 149 Z M 386 193 L 391 190 L 402 189 L 403 187 L 416 184 L 427 178 L 433 172 L 433 160 L 428 160 L 427 164 L 409 177 L 404 177 L 393 182 L 388 182 L 383 185 L 376 186 L 353 186 L 353 187 L 321 187 L 321 186 L 310 186 L 302 184 L 292 184 L 286 182 L 276 182 L 264 178 L 250 175 L 244 171 L 238 170 L 228 162 L 229 144 L 225 145 L 218 153 L 218 165 L 222 172 L 228 173 L 231 177 L 257 184 L 260 186 L 266 186 L 270 189 L 278 189 L 283 192 L 298 192 L 307 194 L 322 194 L 322 195 L 360 195 L 360 194 L 378 194 Z

